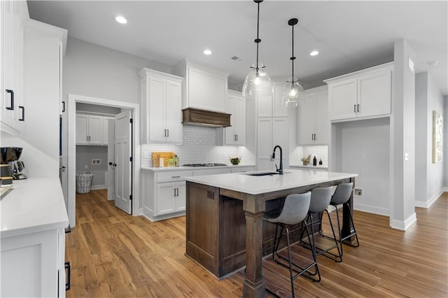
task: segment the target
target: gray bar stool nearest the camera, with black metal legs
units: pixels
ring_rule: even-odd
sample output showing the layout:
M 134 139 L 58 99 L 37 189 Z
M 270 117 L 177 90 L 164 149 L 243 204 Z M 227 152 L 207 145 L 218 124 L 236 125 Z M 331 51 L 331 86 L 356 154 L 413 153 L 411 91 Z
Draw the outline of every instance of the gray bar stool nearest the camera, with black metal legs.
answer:
M 263 220 L 266 222 L 270 222 L 275 227 L 275 238 L 274 238 L 274 250 L 272 251 L 272 260 L 276 262 L 277 264 L 281 264 L 284 267 L 289 268 L 289 274 L 290 274 L 290 283 L 291 283 L 291 292 L 293 293 L 293 297 L 295 297 L 294 294 L 294 279 L 298 276 L 301 276 L 305 272 L 307 272 L 308 275 L 305 275 L 309 278 L 310 276 L 318 275 L 318 279 L 311 278 L 313 281 L 320 281 L 321 275 L 319 274 L 318 267 L 317 267 L 317 261 L 316 261 L 316 254 L 313 252 L 313 260 L 311 264 L 309 264 L 307 267 L 303 268 L 299 265 L 292 262 L 291 259 L 291 250 L 290 250 L 290 239 L 289 239 L 289 231 L 290 231 L 290 225 L 297 225 L 298 223 L 302 222 L 304 218 L 307 216 L 308 208 L 309 208 L 309 201 L 311 200 L 311 192 L 306 192 L 304 194 L 289 194 L 288 197 L 285 199 L 285 204 L 283 205 L 283 208 L 281 210 L 276 209 L 273 211 L 268 211 L 263 216 Z M 302 224 L 303 225 L 303 224 Z M 279 227 L 281 227 L 280 234 Z M 286 243 L 288 244 L 288 258 L 283 257 L 279 255 L 278 248 L 279 243 L 281 240 L 281 237 L 283 236 L 283 229 L 286 229 Z M 278 235 L 278 237 L 277 237 Z M 310 236 L 307 233 L 308 239 L 310 240 Z M 288 262 L 288 265 L 284 264 L 283 262 L 280 262 L 281 260 Z M 293 268 L 294 266 L 294 268 Z M 309 269 L 312 267 L 315 268 L 314 273 L 311 271 L 309 272 Z M 298 270 L 297 270 L 298 269 Z M 297 272 L 297 274 L 293 275 L 293 271 Z

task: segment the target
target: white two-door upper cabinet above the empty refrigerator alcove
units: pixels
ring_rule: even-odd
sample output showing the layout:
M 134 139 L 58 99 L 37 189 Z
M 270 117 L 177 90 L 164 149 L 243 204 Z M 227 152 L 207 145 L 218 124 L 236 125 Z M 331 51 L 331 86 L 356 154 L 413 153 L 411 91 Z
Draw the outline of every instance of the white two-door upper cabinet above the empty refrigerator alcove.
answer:
M 393 62 L 324 80 L 330 120 L 376 118 L 391 114 Z

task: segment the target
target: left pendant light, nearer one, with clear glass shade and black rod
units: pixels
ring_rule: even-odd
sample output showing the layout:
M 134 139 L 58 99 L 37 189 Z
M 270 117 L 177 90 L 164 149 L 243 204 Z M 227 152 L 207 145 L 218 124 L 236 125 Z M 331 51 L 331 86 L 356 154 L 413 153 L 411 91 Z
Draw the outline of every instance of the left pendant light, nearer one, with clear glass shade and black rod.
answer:
M 246 76 L 243 85 L 243 96 L 246 98 L 264 97 L 272 95 L 272 83 L 271 79 L 265 71 L 265 66 L 258 62 L 258 45 L 261 42 L 259 34 L 260 27 L 260 3 L 263 0 L 253 0 L 258 5 L 257 10 L 257 38 L 255 43 L 257 45 L 257 58 L 256 62 L 251 66 L 252 71 Z

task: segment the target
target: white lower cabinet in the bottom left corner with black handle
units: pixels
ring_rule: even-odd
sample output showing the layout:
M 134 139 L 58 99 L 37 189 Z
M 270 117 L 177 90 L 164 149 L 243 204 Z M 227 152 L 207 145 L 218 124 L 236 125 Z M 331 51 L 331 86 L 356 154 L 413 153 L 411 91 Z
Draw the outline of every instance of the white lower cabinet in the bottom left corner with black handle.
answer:
M 64 229 L 2 238 L 0 297 L 65 297 L 64 252 Z

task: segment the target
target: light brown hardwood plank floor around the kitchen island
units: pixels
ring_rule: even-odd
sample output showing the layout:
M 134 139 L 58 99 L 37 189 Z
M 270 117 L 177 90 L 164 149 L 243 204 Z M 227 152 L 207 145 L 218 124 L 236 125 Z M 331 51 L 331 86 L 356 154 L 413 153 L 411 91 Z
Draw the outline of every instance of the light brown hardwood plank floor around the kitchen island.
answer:
M 344 246 L 342 263 L 319 256 L 322 281 L 297 278 L 295 295 L 448 297 L 448 194 L 428 209 L 416 208 L 416 216 L 402 232 L 385 216 L 355 211 L 360 247 Z M 242 296 L 244 271 L 218 281 L 184 255 L 185 246 L 185 217 L 150 222 L 118 210 L 106 190 L 76 194 L 76 227 L 66 234 L 66 296 Z M 294 253 L 301 250 L 295 246 Z M 269 290 L 290 297 L 288 269 L 268 257 L 263 274 Z

